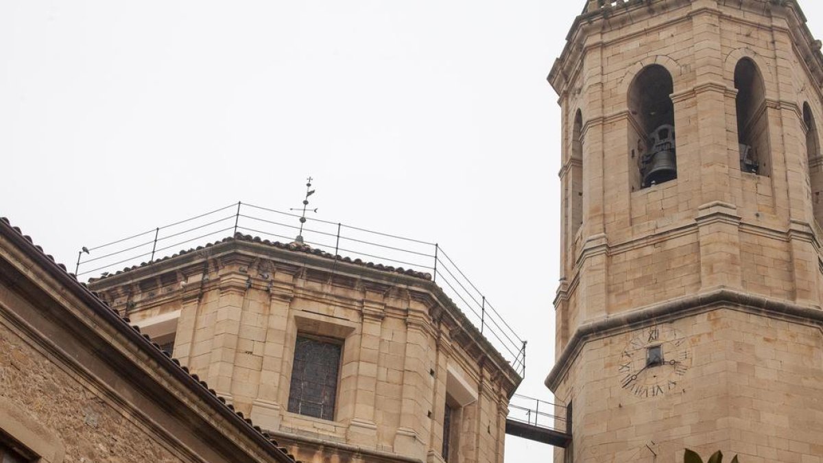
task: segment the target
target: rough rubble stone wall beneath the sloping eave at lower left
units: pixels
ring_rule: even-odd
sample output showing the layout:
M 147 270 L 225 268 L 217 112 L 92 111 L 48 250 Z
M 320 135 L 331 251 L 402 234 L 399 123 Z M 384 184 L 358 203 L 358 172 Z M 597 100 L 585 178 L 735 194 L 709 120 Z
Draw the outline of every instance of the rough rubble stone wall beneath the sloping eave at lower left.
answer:
M 110 394 L 67 371 L 8 323 L 2 318 L 0 324 L 0 409 L 16 409 L 47 429 L 64 461 L 188 461 Z

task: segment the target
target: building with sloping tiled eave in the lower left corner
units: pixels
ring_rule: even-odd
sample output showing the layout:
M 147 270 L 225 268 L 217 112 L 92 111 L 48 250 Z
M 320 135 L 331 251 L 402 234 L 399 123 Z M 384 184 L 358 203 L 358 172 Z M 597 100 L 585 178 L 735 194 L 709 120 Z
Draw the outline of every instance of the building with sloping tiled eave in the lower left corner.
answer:
M 295 463 L 5 218 L 0 461 Z

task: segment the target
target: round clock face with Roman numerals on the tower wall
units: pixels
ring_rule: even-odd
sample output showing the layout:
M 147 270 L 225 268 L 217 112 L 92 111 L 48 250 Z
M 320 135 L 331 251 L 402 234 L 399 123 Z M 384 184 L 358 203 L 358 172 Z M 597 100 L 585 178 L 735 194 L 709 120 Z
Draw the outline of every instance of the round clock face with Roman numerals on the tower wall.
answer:
M 677 390 L 689 367 L 689 340 L 671 326 L 654 325 L 632 335 L 617 370 L 622 388 L 645 399 Z

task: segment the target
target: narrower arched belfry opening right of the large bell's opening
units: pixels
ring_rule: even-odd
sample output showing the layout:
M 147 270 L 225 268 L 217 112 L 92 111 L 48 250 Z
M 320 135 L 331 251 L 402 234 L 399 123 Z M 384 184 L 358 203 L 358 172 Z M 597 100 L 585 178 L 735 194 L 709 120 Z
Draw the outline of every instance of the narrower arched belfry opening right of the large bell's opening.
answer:
M 769 115 L 763 76 L 754 61 L 742 58 L 734 68 L 737 88 L 737 143 L 740 170 L 769 175 Z

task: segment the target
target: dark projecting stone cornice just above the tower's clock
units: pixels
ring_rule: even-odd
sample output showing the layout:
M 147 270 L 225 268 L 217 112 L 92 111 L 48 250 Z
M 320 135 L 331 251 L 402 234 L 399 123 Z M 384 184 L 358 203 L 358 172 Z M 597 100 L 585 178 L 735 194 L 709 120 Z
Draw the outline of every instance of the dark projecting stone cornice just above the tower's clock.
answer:
M 715 288 L 580 325 L 557 358 L 555 367 L 546 376 L 546 387 L 556 391 L 574 358 L 589 341 L 720 308 L 823 327 L 823 310 L 819 306 L 804 306 L 729 288 Z

